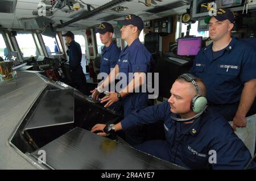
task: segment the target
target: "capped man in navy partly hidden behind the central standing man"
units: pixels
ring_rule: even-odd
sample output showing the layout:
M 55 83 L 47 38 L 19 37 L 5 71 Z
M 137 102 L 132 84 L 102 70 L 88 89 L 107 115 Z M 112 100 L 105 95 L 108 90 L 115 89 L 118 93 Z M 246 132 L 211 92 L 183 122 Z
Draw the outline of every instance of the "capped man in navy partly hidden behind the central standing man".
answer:
M 102 49 L 101 56 L 101 69 L 100 72 L 104 72 L 109 75 L 110 69 L 113 69 L 117 64 L 120 49 L 112 41 L 114 28 L 111 24 L 103 22 L 96 30 L 96 33 L 100 33 L 101 43 L 105 45 Z

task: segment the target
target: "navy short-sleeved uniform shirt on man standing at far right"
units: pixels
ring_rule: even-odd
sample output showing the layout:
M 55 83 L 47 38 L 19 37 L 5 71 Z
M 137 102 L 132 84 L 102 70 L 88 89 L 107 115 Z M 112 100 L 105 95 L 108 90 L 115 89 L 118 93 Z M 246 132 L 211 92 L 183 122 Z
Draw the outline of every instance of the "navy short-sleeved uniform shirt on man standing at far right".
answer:
M 197 53 L 189 73 L 203 79 L 210 103 L 238 103 L 244 83 L 256 78 L 256 52 L 232 38 L 219 57 L 213 58 L 212 45 Z

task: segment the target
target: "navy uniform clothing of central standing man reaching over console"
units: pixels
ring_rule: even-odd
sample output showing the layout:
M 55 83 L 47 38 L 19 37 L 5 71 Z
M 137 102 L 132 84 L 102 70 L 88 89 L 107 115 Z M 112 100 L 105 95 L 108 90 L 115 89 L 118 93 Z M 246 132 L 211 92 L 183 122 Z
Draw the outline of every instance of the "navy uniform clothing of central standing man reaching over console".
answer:
M 129 73 L 144 72 L 150 70 L 151 54 L 146 47 L 135 39 L 130 46 L 122 50 L 118 58 L 119 73 L 125 73 L 127 76 L 127 85 L 132 80 Z M 122 87 L 124 88 L 124 87 Z M 122 99 L 124 116 L 133 110 L 140 110 L 147 107 L 147 93 L 133 92 Z

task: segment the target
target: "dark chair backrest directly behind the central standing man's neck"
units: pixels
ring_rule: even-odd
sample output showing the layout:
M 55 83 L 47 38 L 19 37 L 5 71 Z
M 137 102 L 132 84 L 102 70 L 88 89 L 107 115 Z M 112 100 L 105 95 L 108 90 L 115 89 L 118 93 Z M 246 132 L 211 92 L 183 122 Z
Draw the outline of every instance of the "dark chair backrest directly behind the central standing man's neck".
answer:
M 144 45 L 151 54 L 158 53 L 159 52 L 158 33 L 155 33 L 155 32 L 147 33 L 144 38 Z

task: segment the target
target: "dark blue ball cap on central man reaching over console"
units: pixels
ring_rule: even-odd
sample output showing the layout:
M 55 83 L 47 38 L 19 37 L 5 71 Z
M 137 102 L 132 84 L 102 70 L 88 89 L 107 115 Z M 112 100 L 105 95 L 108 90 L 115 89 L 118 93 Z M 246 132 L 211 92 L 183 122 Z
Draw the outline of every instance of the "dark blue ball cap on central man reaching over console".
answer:
M 142 31 L 142 29 L 144 28 L 143 20 L 139 16 L 134 14 L 127 15 L 125 20 L 119 20 L 117 21 L 117 23 L 119 27 L 132 24 L 133 26 L 138 27 L 139 31 Z

